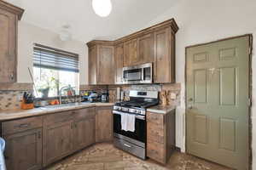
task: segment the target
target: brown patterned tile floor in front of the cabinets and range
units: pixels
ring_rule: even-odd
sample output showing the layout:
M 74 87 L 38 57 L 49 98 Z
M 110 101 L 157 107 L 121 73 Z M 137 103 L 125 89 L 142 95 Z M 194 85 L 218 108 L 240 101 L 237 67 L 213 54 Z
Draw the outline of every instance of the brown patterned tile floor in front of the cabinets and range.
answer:
M 59 161 L 47 170 L 230 170 L 227 167 L 175 152 L 166 166 L 143 161 L 118 150 L 113 144 L 95 144 Z

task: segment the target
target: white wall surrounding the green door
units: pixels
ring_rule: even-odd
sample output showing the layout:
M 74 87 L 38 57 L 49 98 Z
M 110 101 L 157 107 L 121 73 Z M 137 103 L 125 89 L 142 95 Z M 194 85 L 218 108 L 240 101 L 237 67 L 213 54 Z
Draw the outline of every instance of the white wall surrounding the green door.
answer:
M 253 33 L 256 37 L 255 0 L 181 0 L 147 26 L 174 18 L 177 26 L 177 82 L 181 82 L 182 101 L 177 107 L 177 146 L 185 150 L 185 105 L 184 105 L 184 65 L 185 47 L 211 42 L 225 37 Z M 140 28 L 142 29 L 142 28 Z M 256 169 L 256 43 L 253 45 L 253 169 Z

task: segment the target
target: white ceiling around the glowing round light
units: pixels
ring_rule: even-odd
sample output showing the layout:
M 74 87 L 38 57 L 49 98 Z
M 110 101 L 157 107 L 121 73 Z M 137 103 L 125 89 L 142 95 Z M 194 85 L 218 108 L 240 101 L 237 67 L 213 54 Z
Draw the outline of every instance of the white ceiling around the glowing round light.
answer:
M 91 0 L 6 0 L 25 9 L 21 20 L 50 31 L 60 32 L 70 25 L 73 39 L 113 40 L 146 26 L 178 0 L 112 0 L 107 18 L 97 16 Z

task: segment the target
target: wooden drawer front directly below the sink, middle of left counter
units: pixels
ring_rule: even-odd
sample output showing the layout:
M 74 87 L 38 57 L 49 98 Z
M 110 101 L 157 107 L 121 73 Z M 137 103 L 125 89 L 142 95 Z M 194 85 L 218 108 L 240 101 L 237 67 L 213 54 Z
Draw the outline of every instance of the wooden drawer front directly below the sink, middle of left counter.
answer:
M 44 116 L 44 125 L 52 125 L 55 123 L 68 122 L 73 120 L 73 111 L 62 111 L 51 115 Z

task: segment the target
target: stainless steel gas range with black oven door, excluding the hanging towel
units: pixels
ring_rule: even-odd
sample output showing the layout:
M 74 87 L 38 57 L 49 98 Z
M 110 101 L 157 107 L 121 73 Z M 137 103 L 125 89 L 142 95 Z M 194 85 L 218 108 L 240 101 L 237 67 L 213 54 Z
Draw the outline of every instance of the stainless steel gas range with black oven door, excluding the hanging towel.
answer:
M 146 159 L 147 123 L 146 110 L 159 104 L 158 92 L 130 91 L 130 100 L 113 106 L 113 144 L 115 147 Z M 122 130 L 121 116 L 135 115 L 134 132 Z

